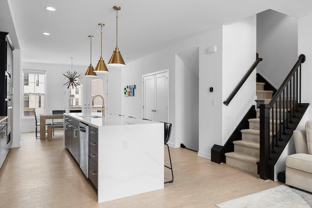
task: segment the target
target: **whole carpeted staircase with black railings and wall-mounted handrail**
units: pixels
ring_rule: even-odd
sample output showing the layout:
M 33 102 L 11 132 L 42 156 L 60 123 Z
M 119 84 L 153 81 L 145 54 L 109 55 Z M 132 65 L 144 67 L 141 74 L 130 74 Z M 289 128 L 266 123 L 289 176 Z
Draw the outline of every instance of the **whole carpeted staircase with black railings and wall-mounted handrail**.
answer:
M 276 92 L 267 80 L 257 76 L 257 107 L 261 111 L 252 106 L 224 146 L 212 147 L 212 162 L 259 174 L 263 180 L 274 180 L 274 166 L 310 105 L 301 102 L 301 64 L 305 60 L 301 54 Z M 224 105 L 230 104 L 260 61 L 262 58 L 257 55 Z

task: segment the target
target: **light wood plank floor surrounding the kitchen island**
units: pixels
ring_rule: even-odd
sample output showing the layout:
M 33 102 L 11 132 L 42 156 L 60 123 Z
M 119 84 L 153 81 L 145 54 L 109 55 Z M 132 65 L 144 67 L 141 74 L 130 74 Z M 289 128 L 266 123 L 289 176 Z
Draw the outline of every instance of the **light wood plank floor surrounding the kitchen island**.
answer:
M 0 207 L 209 208 L 280 185 L 213 163 L 194 151 L 171 148 L 173 183 L 161 190 L 98 204 L 96 192 L 63 149 L 62 132 L 56 133 L 50 142 L 36 140 L 33 132 L 22 133 L 21 148 L 11 149 L 0 169 Z M 165 158 L 166 153 L 165 149 Z M 170 174 L 165 170 L 165 180 Z

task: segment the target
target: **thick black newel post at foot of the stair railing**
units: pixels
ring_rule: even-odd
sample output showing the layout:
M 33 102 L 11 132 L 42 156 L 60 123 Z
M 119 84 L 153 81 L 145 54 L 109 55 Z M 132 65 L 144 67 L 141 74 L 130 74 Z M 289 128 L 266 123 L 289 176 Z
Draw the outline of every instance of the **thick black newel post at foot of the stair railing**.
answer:
M 270 157 L 270 107 L 268 104 L 260 105 L 260 166 L 259 175 L 263 180 L 269 179 Z

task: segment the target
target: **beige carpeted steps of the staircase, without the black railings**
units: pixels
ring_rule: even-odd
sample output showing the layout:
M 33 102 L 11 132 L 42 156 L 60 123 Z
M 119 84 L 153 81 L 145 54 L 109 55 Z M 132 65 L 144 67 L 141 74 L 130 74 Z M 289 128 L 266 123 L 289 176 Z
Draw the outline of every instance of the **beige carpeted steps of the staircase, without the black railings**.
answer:
M 273 91 L 264 90 L 265 83 L 256 83 L 256 95 L 258 100 L 269 103 Z M 233 141 L 234 151 L 225 153 L 226 164 L 238 169 L 257 174 L 257 162 L 260 161 L 260 109 L 256 109 L 256 118 L 248 119 L 249 129 L 241 130 L 242 140 Z M 279 113 L 278 113 L 279 114 Z M 270 120 L 272 123 L 273 121 Z M 279 122 L 274 120 L 274 123 Z M 272 139 L 272 134 L 270 135 Z

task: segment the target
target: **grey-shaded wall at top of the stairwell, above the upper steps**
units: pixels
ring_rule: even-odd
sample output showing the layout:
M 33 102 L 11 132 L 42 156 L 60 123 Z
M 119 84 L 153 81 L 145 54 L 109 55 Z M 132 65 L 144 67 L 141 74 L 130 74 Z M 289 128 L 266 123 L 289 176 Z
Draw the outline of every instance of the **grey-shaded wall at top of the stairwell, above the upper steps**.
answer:
M 257 52 L 263 58 L 257 72 L 276 89 L 298 60 L 297 21 L 270 9 L 257 14 Z

